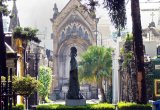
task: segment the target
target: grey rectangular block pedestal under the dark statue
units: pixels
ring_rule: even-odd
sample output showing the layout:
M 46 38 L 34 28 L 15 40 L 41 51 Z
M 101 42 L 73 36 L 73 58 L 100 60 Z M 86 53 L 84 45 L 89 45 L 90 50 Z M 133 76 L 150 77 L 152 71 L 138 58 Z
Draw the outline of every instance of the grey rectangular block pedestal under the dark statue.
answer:
M 67 99 L 65 100 L 66 106 L 84 106 L 86 105 L 86 99 Z

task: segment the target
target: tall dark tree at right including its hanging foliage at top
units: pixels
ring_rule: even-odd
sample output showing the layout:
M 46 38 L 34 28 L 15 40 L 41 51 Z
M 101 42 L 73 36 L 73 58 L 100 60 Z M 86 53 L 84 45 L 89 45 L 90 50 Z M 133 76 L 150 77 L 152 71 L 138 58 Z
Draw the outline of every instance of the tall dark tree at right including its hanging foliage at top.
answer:
M 96 6 L 97 1 L 90 1 L 92 9 Z M 108 14 L 111 18 L 111 22 L 115 28 L 119 31 L 125 28 L 126 24 L 126 8 L 125 0 L 104 0 L 105 8 L 108 9 Z M 144 70 L 144 53 L 143 53 L 143 39 L 142 39 L 142 27 L 140 20 L 140 7 L 139 0 L 131 0 L 131 13 L 132 13 L 132 33 L 134 42 L 134 53 L 136 57 L 137 78 L 139 79 L 138 85 L 138 97 L 139 103 L 146 104 L 146 82 L 145 82 L 145 70 Z

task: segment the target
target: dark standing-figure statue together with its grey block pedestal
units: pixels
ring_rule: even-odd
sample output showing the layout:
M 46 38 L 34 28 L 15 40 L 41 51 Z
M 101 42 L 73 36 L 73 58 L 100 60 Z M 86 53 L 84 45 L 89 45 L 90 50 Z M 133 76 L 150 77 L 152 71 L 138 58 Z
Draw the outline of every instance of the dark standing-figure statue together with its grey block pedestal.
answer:
M 68 93 L 66 95 L 67 106 L 86 105 L 86 99 L 80 93 L 80 86 L 78 81 L 78 64 L 75 58 L 76 56 L 77 56 L 77 49 L 75 47 L 71 47 L 69 87 L 68 87 Z

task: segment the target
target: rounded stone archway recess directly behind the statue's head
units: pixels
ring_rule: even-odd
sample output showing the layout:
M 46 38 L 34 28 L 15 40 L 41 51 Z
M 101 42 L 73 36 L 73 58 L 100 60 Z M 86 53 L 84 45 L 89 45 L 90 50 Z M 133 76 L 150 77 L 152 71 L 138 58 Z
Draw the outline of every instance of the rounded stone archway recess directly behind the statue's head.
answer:
M 69 79 L 69 70 L 70 70 L 70 48 L 76 47 L 77 48 L 77 61 L 80 61 L 80 55 L 87 50 L 88 46 L 91 43 L 87 42 L 83 39 L 78 37 L 71 38 L 65 41 L 60 48 L 58 49 L 58 58 L 57 58 L 57 65 L 58 65 L 58 77 L 59 86 L 68 85 Z

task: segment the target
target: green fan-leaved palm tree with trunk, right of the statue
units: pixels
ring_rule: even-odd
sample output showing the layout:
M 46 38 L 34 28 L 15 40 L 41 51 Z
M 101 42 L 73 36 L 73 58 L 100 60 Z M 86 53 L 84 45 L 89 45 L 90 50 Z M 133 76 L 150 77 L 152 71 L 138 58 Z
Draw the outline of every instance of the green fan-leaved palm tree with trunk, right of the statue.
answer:
M 111 78 L 111 54 L 111 48 L 91 46 L 82 54 L 79 63 L 80 79 L 98 83 L 102 96 L 101 102 L 106 102 L 102 82 L 104 78 Z

